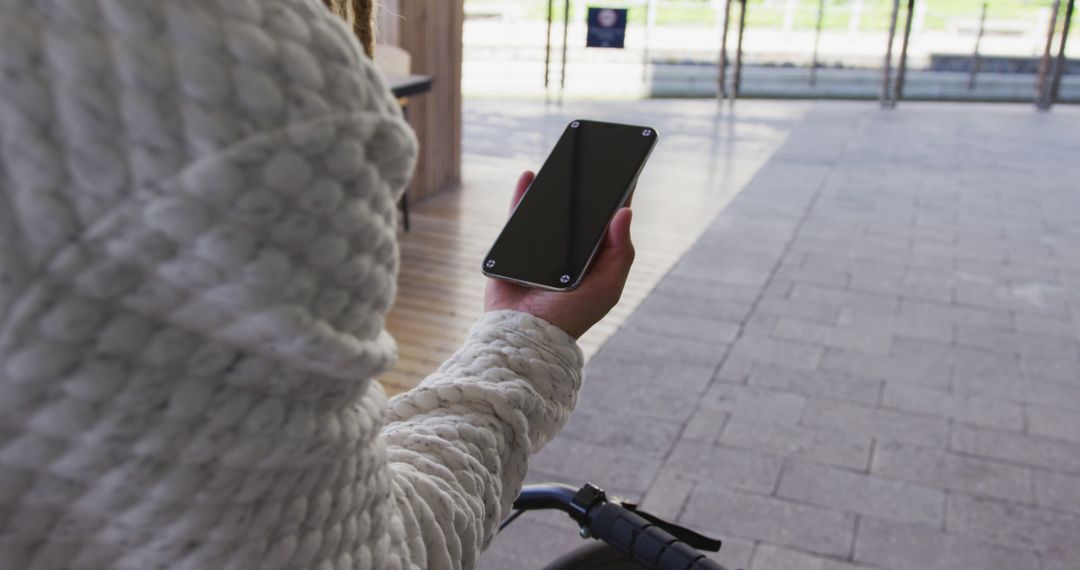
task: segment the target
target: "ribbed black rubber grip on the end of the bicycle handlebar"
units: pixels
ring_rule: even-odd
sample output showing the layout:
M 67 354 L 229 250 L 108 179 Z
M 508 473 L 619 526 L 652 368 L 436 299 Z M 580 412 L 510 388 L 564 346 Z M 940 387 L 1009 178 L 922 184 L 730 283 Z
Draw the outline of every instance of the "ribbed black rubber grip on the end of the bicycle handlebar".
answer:
M 593 537 L 657 570 L 725 570 L 664 529 L 616 503 L 605 503 L 589 513 Z

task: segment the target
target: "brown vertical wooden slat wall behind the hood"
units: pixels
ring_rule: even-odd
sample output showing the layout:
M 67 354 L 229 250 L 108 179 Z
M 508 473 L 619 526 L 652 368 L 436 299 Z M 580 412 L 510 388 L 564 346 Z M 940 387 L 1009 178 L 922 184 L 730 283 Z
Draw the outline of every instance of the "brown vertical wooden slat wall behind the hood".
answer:
M 408 101 L 420 157 L 408 193 L 413 202 L 461 180 L 462 0 L 400 0 L 397 40 L 413 72 L 434 79 L 431 92 Z

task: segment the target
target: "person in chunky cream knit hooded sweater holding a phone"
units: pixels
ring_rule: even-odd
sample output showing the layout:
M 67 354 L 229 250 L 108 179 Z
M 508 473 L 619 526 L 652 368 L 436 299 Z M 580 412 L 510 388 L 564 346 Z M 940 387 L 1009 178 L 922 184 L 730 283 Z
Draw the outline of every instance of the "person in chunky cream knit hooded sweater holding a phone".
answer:
M 388 402 L 416 141 L 343 21 L 8 0 L 0 94 L 0 568 L 474 566 L 575 406 L 629 211 L 578 290 L 489 283 Z

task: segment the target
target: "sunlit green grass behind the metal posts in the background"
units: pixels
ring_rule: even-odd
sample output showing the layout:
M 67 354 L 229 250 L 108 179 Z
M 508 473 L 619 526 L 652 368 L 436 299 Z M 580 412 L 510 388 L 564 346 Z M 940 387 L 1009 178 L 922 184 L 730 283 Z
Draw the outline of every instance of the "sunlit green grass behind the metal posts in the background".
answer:
M 700 25 L 713 26 L 716 22 L 716 14 L 712 2 L 708 0 L 679 0 L 664 1 L 654 0 L 657 4 L 657 25 Z M 854 0 L 826 0 L 825 17 L 822 22 L 824 29 L 847 29 L 850 22 L 851 5 Z M 978 18 L 983 0 L 917 0 L 927 5 L 924 29 L 944 29 L 949 21 L 963 18 L 975 21 Z M 465 0 L 470 5 L 488 5 L 498 8 L 504 5 L 504 0 Z M 546 0 L 523 0 L 526 4 L 526 17 L 529 19 L 544 21 L 548 17 Z M 582 3 L 589 6 L 602 8 L 629 8 L 630 22 L 644 23 L 646 18 L 645 5 L 642 0 L 617 2 L 608 0 L 571 0 L 570 14 L 578 13 L 578 6 Z M 746 26 L 750 28 L 777 28 L 782 26 L 787 0 L 748 0 L 746 13 Z M 1062 11 L 1064 13 L 1065 2 Z M 629 5 L 633 4 L 633 5 Z M 990 19 L 1013 19 L 1041 25 L 1039 23 L 1040 9 L 1049 8 L 1052 0 L 998 0 L 990 1 L 988 18 Z M 555 0 L 555 21 L 563 19 L 562 0 Z M 892 10 L 891 0 L 864 0 L 862 17 L 860 18 L 860 29 L 878 30 L 889 26 L 889 15 Z M 732 18 L 738 17 L 738 8 L 732 6 Z M 818 19 L 818 0 L 795 0 L 795 17 L 793 25 L 795 29 L 811 29 Z M 1076 25 L 1080 21 L 1080 11 L 1074 14 L 1072 23 Z

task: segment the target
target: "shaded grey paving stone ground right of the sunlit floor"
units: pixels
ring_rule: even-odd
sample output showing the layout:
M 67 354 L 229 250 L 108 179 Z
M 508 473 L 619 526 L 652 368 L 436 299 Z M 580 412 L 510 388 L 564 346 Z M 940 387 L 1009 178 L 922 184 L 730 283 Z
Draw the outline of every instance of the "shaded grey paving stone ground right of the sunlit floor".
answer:
M 1078 111 L 815 105 L 530 480 L 642 500 L 731 568 L 1080 568 Z M 481 568 L 580 544 L 530 515 Z

